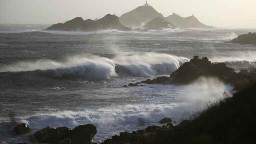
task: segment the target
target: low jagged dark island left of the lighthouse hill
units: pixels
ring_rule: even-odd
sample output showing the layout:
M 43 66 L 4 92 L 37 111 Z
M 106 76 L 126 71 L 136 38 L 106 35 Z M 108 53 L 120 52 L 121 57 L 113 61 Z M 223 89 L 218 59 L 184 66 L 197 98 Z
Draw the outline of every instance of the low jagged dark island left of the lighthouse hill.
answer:
M 81 17 L 76 17 L 65 23 L 58 23 L 50 26 L 46 30 L 65 30 L 65 31 L 99 31 L 106 29 L 117 29 L 122 31 L 129 31 L 131 28 L 125 27 L 119 21 L 116 15 L 107 14 L 98 20 L 83 20 Z

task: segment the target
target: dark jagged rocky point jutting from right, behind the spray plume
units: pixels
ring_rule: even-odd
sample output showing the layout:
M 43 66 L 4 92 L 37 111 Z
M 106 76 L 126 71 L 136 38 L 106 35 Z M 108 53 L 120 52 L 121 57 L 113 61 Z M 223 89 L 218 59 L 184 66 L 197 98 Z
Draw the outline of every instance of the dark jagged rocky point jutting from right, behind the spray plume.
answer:
M 170 77 L 147 79 L 140 83 L 186 85 L 201 76 L 217 77 L 226 83 L 232 84 L 234 90 L 240 90 L 256 82 L 256 68 L 249 67 L 236 73 L 233 68 L 227 67 L 225 63 L 211 63 L 207 57 L 200 59 L 198 56 L 194 56 L 190 62 L 185 62 L 174 71 Z

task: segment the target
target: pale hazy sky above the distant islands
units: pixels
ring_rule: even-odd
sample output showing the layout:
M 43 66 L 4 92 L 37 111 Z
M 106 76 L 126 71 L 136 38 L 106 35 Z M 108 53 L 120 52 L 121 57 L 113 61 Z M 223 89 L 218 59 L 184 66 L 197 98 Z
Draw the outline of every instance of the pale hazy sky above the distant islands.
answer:
M 164 16 L 194 14 L 216 27 L 256 28 L 256 0 L 148 0 Z M 145 0 L 0 0 L 0 23 L 55 24 L 75 17 L 101 18 L 143 5 Z

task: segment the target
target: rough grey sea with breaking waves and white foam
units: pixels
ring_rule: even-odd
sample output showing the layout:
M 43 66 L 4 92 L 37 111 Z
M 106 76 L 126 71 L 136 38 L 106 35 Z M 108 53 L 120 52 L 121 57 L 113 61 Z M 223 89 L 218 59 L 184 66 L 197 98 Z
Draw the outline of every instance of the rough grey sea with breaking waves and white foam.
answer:
M 29 134 L 12 132 L 20 122 L 32 133 L 91 123 L 95 142 L 159 125 L 163 117 L 178 123 L 224 92 L 232 96 L 232 87 L 214 77 L 186 86 L 122 86 L 168 76 L 194 55 L 236 70 L 256 61 L 256 46 L 227 43 L 255 29 L 67 32 L 47 26 L 0 25 L 0 143 L 29 141 Z

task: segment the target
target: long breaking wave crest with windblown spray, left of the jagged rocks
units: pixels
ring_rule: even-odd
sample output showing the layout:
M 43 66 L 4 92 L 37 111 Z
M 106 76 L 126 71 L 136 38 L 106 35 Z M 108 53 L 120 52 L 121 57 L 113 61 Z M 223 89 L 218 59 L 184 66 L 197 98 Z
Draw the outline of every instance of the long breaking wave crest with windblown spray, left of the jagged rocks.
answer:
M 33 71 L 50 70 L 52 76 L 83 75 L 90 79 L 110 79 L 117 76 L 116 64 L 128 69 L 134 76 L 154 76 L 157 74 L 170 74 L 179 66 L 188 61 L 187 58 L 161 53 L 141 53 L 133 55 L 116 56 L 113 59 L 95 55 L 68 57 L 64 61 L 49 59 L 22 61 L 0 68 L 5 71 Z

